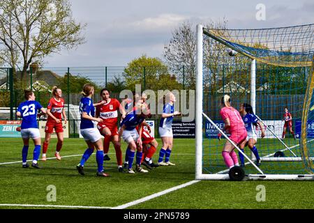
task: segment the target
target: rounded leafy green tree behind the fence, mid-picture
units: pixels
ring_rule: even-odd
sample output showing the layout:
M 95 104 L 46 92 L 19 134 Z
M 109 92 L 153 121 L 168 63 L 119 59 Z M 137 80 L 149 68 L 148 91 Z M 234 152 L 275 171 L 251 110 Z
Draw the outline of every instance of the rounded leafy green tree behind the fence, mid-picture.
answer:
M 160 59 L 147 56 L 141 56 L 128 63 L 124 69 L 124 78 L 126 88 L 131 90 L 135 90 L 135 84 L 142 84 L 143 91 L 168 89 L 168 86 L 172 85 L 181 86 L 175 76 L 169 74 L 167 66 Z

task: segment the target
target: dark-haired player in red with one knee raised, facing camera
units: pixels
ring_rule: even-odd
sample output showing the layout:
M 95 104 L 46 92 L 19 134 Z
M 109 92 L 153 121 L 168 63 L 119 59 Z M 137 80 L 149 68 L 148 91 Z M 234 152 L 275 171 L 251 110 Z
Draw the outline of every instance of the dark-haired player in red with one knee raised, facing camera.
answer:
M 110 98 L 110 92 L 107 89 L 100 91 L 100 96 L 105 103 L 96 107 L 96 117 L 102 118 L 103 121 L 97 124 L 97 128 L 105 139 L 103 141 L 104 146 L 104 160 L 110 160 L 107 155 L 109 151 L 110 141 L 114 145 L 116 151 L 117 164 L 119 172 L 123 172 L 122 168 L 122 151 L 121 144 L 118 141 L 118 110 L 122 114 L 121 118 L 126 116 L 124 108 L 120 105 L 120 102 L 115 98 Z

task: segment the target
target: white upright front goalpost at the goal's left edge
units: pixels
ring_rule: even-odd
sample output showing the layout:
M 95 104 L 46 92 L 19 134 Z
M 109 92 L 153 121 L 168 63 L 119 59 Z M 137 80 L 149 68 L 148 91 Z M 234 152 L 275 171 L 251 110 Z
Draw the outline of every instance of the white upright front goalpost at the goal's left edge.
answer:
M 195 178 L 202 175 L 203 26 L 196 26 Z

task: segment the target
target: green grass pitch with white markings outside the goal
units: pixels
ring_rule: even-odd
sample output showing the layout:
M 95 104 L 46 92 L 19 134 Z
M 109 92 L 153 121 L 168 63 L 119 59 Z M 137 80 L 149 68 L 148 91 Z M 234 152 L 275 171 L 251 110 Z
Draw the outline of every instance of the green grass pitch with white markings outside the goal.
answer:
M 85 176 L 77 173 L 86 149 L 83 139 L 65 139 L 61 161 L 54 159 L 56 142 L 52 139 L 48 148 L 52 159 L 39 161 L 42 169 L 22 169 L 22 139 L 0 139 L 0 208 L 314 208 L 311 181 L 195 180 L 194 139 L 174 139 L 171 162 L 176 166 L 145 174 L 119 173 L 110 145 L 111 160 L 104 164 L 109 178 L 96 177 L 95 155 L 84 166 Z M 125 153 L 126 144 L 121 148 Z M 265 188 L 264 201 L 257 201 L 257 185 Z M 55 201 L 47 199 L 51 188 L 57 192 Z

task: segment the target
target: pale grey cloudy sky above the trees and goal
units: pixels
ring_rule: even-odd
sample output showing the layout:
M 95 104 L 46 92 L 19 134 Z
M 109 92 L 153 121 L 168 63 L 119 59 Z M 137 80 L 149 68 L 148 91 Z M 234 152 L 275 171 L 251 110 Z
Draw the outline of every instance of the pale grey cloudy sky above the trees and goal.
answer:
M 314 22 L 313 0 L 70 0 L 73 17 L 86 23 L 84 45 L 45 59 L 44 66 L 126 66 L 146 54 L 162 59 L 172 31 L 185 21 L 228 20 L 232 29 L 292 26 Z M 241 2 L 241 3 L 239 3 Z M 266 7 L 257 21 L 256 6 Z

